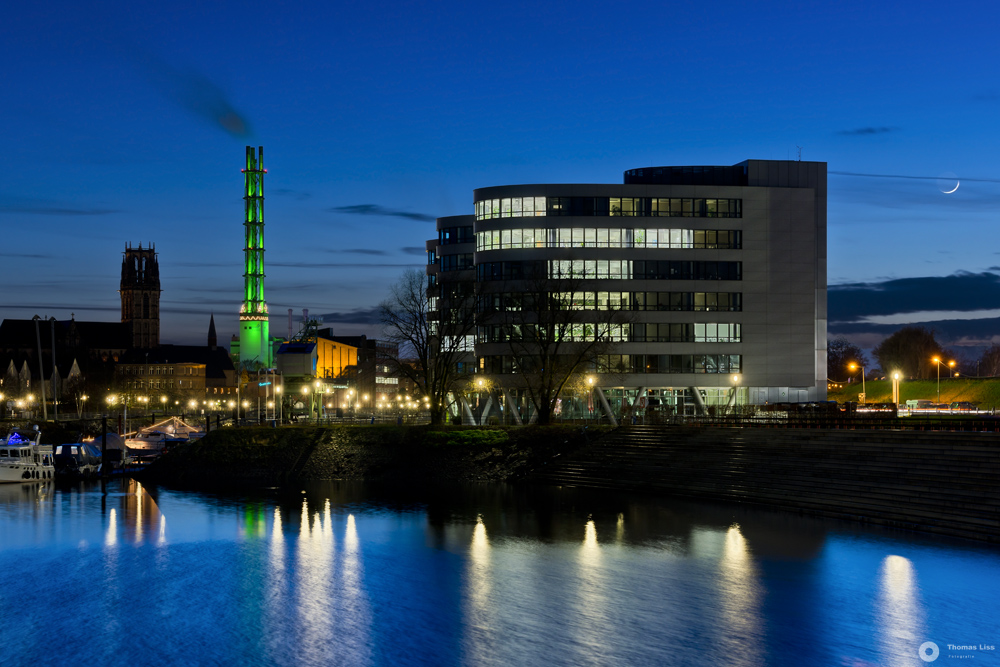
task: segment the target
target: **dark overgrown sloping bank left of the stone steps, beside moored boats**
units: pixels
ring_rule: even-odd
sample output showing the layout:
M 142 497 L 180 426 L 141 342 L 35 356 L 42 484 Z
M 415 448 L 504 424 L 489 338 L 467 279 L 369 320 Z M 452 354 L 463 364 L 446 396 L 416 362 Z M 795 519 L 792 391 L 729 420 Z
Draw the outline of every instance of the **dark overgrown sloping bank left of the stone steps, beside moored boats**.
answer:
M 589 444 L 608 427 L 226 428 L 168 452 L 145 480 L 180 486 L 423 479 L 509 482 Z

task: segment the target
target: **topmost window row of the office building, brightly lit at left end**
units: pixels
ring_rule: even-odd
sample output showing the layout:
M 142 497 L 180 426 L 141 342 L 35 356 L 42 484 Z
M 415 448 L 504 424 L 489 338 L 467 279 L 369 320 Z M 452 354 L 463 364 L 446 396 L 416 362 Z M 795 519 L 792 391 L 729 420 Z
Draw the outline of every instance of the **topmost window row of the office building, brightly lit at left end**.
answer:
M 475 204 L 476 219 L 536 216 L 740 218 L 742 199 L 684 197 L 503 197 Z

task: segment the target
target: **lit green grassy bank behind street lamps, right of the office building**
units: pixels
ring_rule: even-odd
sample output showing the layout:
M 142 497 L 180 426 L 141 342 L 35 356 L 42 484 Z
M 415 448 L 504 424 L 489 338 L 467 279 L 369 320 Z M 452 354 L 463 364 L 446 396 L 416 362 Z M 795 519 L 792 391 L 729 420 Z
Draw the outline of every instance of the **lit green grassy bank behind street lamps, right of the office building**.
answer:
M 899 383 L 899 400 L 924 399 L 937 402 L 937 380 L 903 380 Z M 892 402 L 892 382 L 889 380 L 868 380 L 865 382 L 868 403 Z M 841 385 L 827 393 L 831 401 L 857 401 L 861 393 L 861 383 Z M 1000 407 L 1000 379 L 987 378 L 941 378 L 941 402 L 953 403 L 969 401 L 977 403 L 981 410 Z

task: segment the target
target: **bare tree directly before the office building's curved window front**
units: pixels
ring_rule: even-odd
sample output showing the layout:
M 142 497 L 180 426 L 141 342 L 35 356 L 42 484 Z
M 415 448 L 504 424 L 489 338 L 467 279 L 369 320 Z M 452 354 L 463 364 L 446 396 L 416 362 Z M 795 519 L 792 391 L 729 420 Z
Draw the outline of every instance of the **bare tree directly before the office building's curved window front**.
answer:
M 483 295 L 491 314 L 484 328 L 506 343 L 510 368 L 505 384 L 525 390 L 539 424 L 551 421 L 556 402 L 580 373 L 595 370 L 625 338 L 621 304 L 598 304 L 582 280 L 534 275 Z M 581 385 L 582 386 L 582 385 Z

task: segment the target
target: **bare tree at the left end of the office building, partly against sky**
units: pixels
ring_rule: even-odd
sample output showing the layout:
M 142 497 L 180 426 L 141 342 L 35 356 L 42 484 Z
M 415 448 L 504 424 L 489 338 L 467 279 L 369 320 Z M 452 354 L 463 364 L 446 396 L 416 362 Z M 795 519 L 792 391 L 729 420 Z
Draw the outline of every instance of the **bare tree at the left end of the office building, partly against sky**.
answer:
M 473 358 L 474 305 L 474 293 L 459 288 L 429 311 L 427 277 L 417 270 L 406 271 L 379 304 L 383 337 L 398 348 L 389 364 L 430 399 L 431 424 L 442 423 L 459 364 Z

